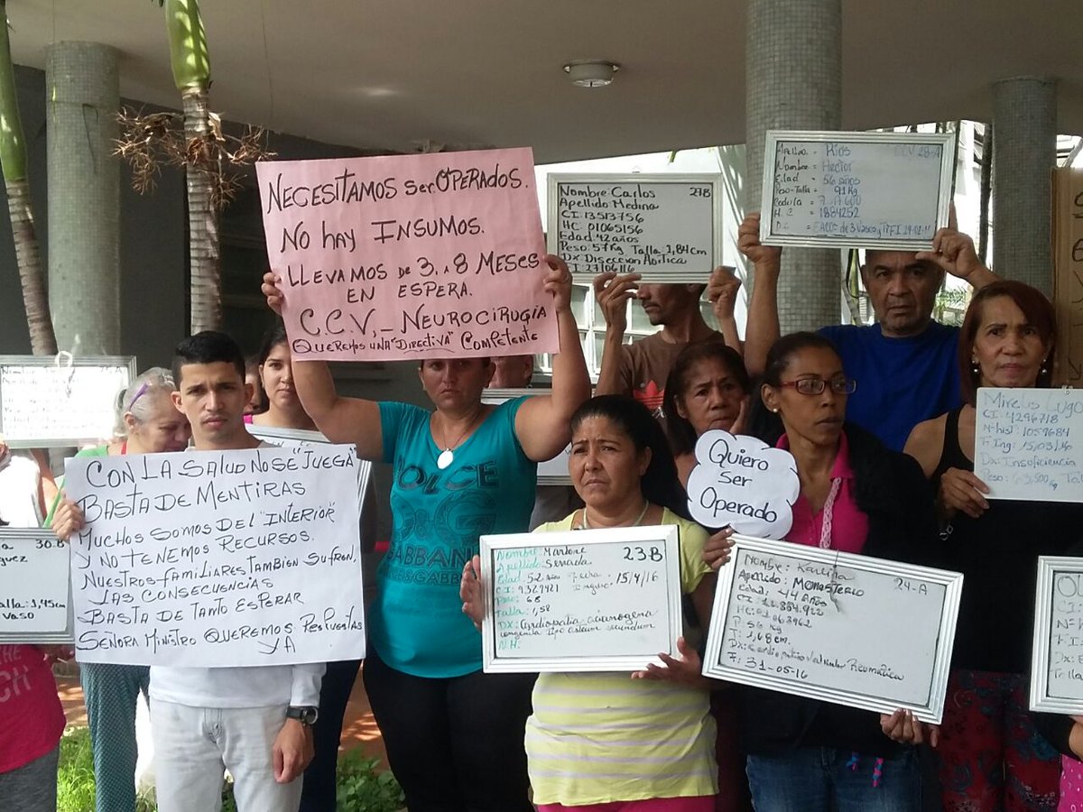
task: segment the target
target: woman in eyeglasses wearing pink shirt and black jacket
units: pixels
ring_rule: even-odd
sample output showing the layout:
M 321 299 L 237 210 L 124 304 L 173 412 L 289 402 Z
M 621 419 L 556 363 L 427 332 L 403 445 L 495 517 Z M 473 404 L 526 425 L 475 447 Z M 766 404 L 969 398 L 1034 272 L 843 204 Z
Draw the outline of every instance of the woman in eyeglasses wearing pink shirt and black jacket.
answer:
M 767 355 L 752 422 L 757 436 L 794 456 L 800 477 L 785 540 L 919 563 L 923 548 L 936 541 L 931 493 L 913 459 L 845 422 L 847 397 L 856 388 L 834 344 L 817 333 L 785 336 Z M 726 550 L 716 535 L 704 558 L 717 567 Z M 757 812 L 921 809 L 910 745 L 924 741 L 927 731 L 910 713 L 882 717 L 741 690 Z

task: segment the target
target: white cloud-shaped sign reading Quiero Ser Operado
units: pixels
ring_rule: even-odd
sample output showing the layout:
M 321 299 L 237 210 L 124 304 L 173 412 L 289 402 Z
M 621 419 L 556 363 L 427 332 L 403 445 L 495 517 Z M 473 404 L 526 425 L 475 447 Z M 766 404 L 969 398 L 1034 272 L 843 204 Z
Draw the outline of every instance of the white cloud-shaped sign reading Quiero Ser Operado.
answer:
M 756 437 L 712 429 L 695 443 L 688 509 L 705 527 L 730 525 L 757 538 L 785 538 L 801 490 L 793 455 Z

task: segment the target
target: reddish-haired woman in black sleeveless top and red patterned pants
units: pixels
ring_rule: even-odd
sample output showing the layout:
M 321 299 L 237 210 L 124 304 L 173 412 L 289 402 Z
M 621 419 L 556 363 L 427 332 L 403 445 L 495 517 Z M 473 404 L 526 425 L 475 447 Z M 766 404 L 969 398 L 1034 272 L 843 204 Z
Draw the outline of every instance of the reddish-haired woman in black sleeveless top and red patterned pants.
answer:
M 1034 730 L 1026 675 L 1038 556 L 1065 554 L 1083 508 L 990 503 L 974 474 L 977 389 L 1048 387 L 1055 336 L 1053 307 L 1038 290 L 1012 280 L 982 288 L 960 337 L 964 405 L 918 423 L 906 442 L 937 488 L 937 563 L 966 576 L 939 747 L 947 812 L 1057 804 L 1058 759 Z

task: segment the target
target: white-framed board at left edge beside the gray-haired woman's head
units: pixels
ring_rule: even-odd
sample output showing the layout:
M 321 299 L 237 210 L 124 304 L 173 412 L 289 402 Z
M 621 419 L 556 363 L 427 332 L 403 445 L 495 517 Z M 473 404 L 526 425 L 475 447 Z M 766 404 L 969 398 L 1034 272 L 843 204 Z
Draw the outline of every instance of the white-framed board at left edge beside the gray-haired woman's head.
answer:
M 0 355 L 0 436 L 12 448 L 110 440 L 117 396 L 134 377 L 131 355 Z

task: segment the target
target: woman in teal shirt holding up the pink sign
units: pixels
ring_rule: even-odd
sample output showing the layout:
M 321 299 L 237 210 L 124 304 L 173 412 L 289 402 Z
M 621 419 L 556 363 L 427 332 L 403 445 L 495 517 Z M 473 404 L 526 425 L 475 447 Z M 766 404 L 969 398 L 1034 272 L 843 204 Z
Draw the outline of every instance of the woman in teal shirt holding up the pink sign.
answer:
M 433 411 L 340 397 L 327 365 L 295 359 L 305 411 L 335 443 L 393 466 L 393 531 L 368 615 L 365 689 L 410 812 L 531 812 L 523 731 L 533 677 L 485 675 L 481 639 L 461 613 L 459 579 L 485 533 L 525 532 L 536 463 L 570 438 L 590 396 L 571 310 L 572 275 L 546 258 L 561 352 L 552 392 L 483 404 L 488 358 L 427 358 L 419 376 Z M 263 293 L 275 312 L 274 274 Z

